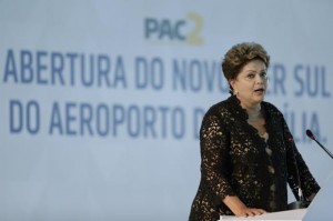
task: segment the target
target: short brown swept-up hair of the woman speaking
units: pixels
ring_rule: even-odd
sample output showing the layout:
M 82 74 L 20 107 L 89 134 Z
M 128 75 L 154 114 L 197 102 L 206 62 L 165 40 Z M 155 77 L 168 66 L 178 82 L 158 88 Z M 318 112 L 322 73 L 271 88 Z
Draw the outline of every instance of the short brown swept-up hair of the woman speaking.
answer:
M 266 68 L 270 66 L 270 56 L 265 49 L 255 42 L 243 42 L 233 46 L 224 56 L 222 71 L 225 79 L 233 80 L 238 77 L 242 68 L 252 60 L 262 60 Z M 232 89 L 232 88 L 231 88 Z

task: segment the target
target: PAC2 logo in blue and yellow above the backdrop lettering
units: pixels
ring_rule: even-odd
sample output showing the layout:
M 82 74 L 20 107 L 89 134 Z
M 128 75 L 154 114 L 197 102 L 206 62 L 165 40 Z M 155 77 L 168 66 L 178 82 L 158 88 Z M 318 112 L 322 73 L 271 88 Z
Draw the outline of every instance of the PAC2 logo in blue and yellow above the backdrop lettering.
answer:
M 203 44 L 200 36 L 203 28 L 203 19 L 200 14 L 190 12 L 186 19 L 144 19 L 144 38 L 157 41 L 179 41 L 191 46 Z

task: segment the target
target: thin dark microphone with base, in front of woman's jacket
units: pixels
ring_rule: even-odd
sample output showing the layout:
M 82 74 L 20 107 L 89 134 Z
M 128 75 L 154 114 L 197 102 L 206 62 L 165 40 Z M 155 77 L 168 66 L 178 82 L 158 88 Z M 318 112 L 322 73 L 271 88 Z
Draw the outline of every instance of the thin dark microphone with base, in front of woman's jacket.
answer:
M 296 171 L 296 178 L 297 178 L 297 195 L 299 195 L 299 201 L 292 202 L 287 204 L 287 209 L 289 210 L 296 210 L 296 209 L 304 209 L 307 208 L 310 202 L 304 200 L 304 195 L 301 189 L 301 178 L 300 178 L 300 170 L 297 167 L 297 161 L 296 161 L 296 157 L 295 157 L 295 151 L 294 151 L 294 140 L 293 138 L 289 138 L 287 141 L 291 143 L 292 145 L 292 154 L 293 154 L 293 160 L 294 160 L 294 164 L 295 164 L 295 171 Z

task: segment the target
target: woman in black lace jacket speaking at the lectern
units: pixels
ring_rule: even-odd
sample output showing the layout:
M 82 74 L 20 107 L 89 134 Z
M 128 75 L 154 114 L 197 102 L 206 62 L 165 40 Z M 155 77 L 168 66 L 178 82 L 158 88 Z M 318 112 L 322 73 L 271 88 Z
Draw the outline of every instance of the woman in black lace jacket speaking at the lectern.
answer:
M 269 64 L 269 54 L 258 43 L 240 43 L 226 52 L 222 70 L 232 96 L 203 118 L 201 182 L 190 221 L 286 210 L 287 183 L 300 200 L 297 178 L 306 200 L 320 190 L 282 113 L 263 101 Z

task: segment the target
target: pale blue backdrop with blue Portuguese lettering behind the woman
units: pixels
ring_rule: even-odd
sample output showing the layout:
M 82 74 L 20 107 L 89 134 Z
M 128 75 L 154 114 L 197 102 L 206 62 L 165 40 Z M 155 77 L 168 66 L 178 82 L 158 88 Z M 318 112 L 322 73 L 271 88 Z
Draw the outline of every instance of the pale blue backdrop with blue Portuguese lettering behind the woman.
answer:
M 323 185 L 332 160 L 304 131 L 332 150 L 332 7 L 0 1 L 0 220 L 186 220 L 201 118 L 243 41 L 271 54 L 266 100 Z

